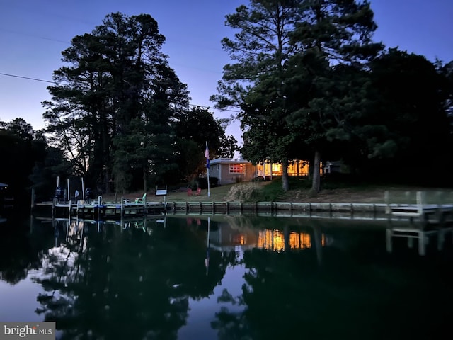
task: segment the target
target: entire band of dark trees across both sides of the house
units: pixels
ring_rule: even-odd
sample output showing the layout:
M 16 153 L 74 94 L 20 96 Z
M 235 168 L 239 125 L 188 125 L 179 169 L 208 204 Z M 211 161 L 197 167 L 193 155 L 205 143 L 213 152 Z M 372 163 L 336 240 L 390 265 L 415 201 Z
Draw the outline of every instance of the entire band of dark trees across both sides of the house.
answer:
M 243 157 L 281 163 L 283 190 L 297 160 L 309 161 L 314 192 L 334 160 L 373 179 L 446 180 L 433 164 L 453 165 L 453 62 L 373 42 L 369 1 L 251 0 L 225 23 L 231 63 L 212 101 L 239 108 Z M 0 122 L 1 181 L 41 188 L 76 175 L 101 192 L 147 191 L 205 171 L 206 142 L 212 157 L 233 157 L 228 120 L 189 105 L 164 42 L 149 14 L 110 13 L 74 37 L 43 102 L 45 130 Z

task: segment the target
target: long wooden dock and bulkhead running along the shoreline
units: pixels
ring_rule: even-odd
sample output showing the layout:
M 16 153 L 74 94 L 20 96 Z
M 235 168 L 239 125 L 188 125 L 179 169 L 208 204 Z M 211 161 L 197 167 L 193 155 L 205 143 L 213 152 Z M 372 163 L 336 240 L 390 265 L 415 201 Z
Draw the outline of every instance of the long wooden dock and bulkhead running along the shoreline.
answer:
M 157 193 L 157 190 L 156 190 Z M 425 229 L 428 225 L 442 227 L 453 222 L 452 204 L 427 204 L 423 192 L 416 193 L 416 203 L 303 203 L 303 202 L 167 202 L 166 189 L 160 195 L 162 202 L 147 202 L 146 195 L 133 202 L 121 198 L 120 202 L 106 203 L 101 196 L 98 200 L 41 203 L 51 206 L 52 216 L 78 216 L 81 218 L 122 218 L 171 212 L 174 215 L 261 215 L 282 217 L 330 217 L 353 219 L 359 215 L 370 220 L 401 220 L 419 223 Z M 415 200 L 413 200 L 415 202 Z

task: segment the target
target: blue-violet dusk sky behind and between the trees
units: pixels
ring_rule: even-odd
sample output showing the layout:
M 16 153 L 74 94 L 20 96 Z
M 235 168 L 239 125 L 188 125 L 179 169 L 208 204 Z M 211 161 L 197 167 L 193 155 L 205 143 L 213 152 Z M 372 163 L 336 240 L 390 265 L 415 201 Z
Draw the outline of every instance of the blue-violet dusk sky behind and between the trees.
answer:
M 41 102 L 52 72 L 62 67 L 61 52 L 75 35 L 91 33 L 108 13 L 150 14 L 166 37 L 163 51 L 180 81 L 188 84 L 190 103 L 214 106 L 222 67 L 230 62 L 220 40 L 233 31 L 224 16 L 246 0 L 2 0 L 0 5 L 0 120 L 23 118 L 44 127 Z M 371 0 L 379 28 L 374 41 L 387 47 L 453 60 L 452 0 Z M 11 77 L 16 76 L 16 77 Z M 24 79 L 28 77 L 38 80 Z M 211 110 L 217 117 L 231 113 Z M 226 130 L 240 139 L 239 123 Z

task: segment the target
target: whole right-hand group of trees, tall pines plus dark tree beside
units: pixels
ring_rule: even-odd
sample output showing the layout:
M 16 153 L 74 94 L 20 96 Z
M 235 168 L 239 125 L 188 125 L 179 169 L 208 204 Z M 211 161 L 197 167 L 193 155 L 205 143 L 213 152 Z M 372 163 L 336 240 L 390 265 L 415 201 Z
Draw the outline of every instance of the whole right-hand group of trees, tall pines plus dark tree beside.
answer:
M 241 152 L 282 163 L 285 191 L 287 164 L 298 159 L 309 160 L 317 192 L 322 161 L 391 174 L 396 158 L 407 168 L 429 149 L 441 157 L 451 72 L 373 42 L 369 1 L 251 0 L 225 24 L 235 32 L 222 40 L 232 63 L 212 101 L 240 109 Z

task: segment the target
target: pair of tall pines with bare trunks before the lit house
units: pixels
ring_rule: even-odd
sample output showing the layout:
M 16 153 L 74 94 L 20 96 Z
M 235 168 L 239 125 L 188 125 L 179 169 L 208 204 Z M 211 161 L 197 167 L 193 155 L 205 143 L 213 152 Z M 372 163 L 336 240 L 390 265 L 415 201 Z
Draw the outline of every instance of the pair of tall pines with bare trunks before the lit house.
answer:
M 329 89 L 347 86 L 336 77 L 341 65 L 363 69 L 381 48 L 371 42 L 372 17 L 367 1 L 353 0 L 251 1 L 226 16 L 239 33 L 222 45 L 237 63 L 224 67 L 212 99 L 241 108 L 243 154 L 253 162 L 282 162 L 285 191 L 287 162 L 295 150 L 306 156 L 309 149 L 319 191 L 321 149 L 343 123 Z

